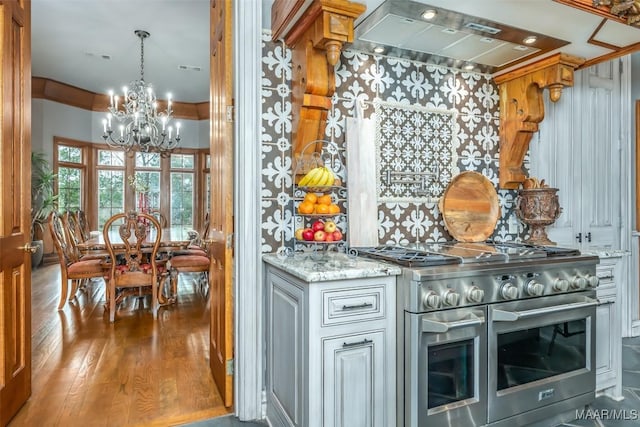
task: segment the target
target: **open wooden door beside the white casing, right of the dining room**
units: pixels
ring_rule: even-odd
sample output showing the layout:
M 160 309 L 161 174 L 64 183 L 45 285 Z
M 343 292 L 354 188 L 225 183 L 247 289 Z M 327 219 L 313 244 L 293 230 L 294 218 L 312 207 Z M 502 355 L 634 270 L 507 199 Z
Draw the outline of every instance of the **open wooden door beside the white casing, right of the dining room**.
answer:
M 233 405 L 232 0 L 211 1 L 210 365 L 224 405 Z

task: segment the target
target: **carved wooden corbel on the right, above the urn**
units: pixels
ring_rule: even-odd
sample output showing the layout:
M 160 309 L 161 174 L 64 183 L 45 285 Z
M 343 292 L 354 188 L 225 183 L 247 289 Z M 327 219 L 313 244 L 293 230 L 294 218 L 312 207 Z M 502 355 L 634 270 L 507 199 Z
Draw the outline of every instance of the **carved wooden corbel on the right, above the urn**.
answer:
M 584 61 L 559 53 L 494 78 L 500 87 L 500 188 L 516 189 L 524 182 L 524 156 L 544 119 L 543 89 L 557 102 Z

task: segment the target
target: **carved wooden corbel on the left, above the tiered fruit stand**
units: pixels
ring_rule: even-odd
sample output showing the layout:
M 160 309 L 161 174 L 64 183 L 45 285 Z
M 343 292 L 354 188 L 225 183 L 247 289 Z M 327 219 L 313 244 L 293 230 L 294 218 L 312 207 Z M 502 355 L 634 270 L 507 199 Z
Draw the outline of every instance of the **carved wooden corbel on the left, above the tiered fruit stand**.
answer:
M 304 9 L 305 5 L 307 8 Z M 303 10 L 304 9 L 304 10 Z M 331 97 L 334 67 L 344 43 L 353 41 L 353 22 L 366 7 L 347 0 L 276 0 L 271 8 L 273 39 L 293 49 L 293 155 L 319 152 Z M 302 153 L 307 147 L 306 152 Z

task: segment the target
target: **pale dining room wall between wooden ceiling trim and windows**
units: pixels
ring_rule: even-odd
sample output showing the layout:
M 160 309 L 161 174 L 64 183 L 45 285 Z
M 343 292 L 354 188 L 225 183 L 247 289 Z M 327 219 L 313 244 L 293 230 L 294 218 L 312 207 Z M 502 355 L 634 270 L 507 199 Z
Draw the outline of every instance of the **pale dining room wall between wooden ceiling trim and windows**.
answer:
M 103 112 L 88 111 L 66 104 L 33 99 L 31 102 L 31 149 L 44 151 L 52 159 L 55 136 L 94 143 L 102 139 Z M 180 147 L 208 148 L 209 120 L 177 120 L 182 124 Z

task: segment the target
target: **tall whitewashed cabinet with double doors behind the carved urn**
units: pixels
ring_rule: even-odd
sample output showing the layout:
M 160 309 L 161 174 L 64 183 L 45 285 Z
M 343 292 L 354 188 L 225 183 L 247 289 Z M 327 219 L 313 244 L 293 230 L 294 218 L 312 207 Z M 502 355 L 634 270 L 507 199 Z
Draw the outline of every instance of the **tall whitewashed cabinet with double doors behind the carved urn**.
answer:
M 530 145 L 529 169 L 559 189 L 563 212 L 547 228 L 559 246 L 621 247 L 621 192 L 628 179 L 620 158 L 628 113 L 621 101 L 623 67 L 628 69 L 628 59 L 579 70 L 558 102 L 545 96 L 545 119 Z

